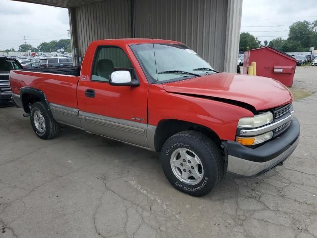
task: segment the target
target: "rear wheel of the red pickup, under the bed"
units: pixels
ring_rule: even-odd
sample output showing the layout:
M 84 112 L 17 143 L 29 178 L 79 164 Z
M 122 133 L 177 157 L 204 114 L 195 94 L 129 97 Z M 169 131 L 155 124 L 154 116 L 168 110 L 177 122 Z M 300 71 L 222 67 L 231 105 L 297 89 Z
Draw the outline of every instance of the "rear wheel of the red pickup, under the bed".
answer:
M 42 120 L 42 125 L 44 124 L 45 127 L 36 125 L 36 120 L 39 117 L 38 115 L 43 116 L 44 122 Z M 30 120 L 35 134 L 43 140 L 52 139 L 59 131 L 59 124 L 55 119 L 49 116 L 49 113 L 42 102 L 36 102 L 31 106 Z M 37 128 L 37 126 L 40 128 Z

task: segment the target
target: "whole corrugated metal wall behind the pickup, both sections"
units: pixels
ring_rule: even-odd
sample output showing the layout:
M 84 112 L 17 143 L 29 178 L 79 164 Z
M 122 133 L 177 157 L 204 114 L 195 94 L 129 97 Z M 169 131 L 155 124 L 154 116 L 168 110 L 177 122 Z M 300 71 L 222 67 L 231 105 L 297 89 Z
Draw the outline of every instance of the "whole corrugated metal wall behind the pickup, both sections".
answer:
M 152 37 L 150 15 L 154 38 L 183 42 L 216 70 L 234 72 L 239 33 L 232 30 L 240 28 L 241 6 L 242 0 L 135 0 L 135 37 Z M 131 0 L 104 0 L 70 13 L 79 56 L 91 41 L 132 36 Z

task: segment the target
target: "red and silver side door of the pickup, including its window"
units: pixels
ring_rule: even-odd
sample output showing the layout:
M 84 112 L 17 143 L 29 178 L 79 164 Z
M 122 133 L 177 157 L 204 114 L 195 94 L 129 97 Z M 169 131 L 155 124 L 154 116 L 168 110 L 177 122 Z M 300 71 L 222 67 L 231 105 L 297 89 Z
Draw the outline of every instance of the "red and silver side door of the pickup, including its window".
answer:
M 78 92 L 80 115 L 85 118 L 87 131 L 147 147 L 148 84 L 112 86 L 109 77 L 117 70 L 128 70 L 137 77 L 121 48 L 97 47 L 84 90 Z

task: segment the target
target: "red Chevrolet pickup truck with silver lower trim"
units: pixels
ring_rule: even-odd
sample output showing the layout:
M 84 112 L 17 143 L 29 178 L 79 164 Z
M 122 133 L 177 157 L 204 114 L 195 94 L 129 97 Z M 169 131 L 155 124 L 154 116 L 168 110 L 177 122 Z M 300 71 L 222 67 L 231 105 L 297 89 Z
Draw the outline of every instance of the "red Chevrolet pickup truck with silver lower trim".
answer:
M 281 165 L 299 141 L 285 86 L 218 73 L 175 41 L 95 41 L 81 67 L 12 70 L 10 85 L 41 139 L 65 124 L 160 152 L 170 183 L 194 196 L 227 172 L 257 176 Z

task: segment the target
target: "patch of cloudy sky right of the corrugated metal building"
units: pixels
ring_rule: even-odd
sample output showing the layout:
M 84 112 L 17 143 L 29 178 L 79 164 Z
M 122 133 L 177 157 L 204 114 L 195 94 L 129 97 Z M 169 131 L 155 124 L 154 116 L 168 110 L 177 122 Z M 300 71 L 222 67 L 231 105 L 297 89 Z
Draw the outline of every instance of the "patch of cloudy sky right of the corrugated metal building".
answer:
M 317 0 L 243 0 L 241 32 L 262 42 L 287 39 L 289 26 L 303 20 L 317 20 Z

